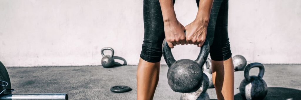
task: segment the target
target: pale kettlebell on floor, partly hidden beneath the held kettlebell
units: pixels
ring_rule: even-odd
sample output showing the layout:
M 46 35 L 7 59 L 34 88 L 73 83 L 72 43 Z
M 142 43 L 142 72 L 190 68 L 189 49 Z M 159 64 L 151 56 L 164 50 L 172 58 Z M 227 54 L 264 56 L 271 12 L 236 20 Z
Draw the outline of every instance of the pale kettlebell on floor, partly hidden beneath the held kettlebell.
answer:
M 203 74 L 203 82 L 200 89 L 192 93 L 182 93 L 180 100 L 209 100 L 209 95 L 206 92 L 209 86 L 209 78 Z

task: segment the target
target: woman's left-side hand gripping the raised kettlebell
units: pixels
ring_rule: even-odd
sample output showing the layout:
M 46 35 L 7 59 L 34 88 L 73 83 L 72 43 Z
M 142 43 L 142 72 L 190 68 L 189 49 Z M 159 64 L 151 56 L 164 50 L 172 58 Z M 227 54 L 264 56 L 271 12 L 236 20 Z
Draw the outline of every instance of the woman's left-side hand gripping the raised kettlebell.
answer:
M 170 48 L 185 44 L 185 27 L 178 20 L 164 21 L 165 39 Z

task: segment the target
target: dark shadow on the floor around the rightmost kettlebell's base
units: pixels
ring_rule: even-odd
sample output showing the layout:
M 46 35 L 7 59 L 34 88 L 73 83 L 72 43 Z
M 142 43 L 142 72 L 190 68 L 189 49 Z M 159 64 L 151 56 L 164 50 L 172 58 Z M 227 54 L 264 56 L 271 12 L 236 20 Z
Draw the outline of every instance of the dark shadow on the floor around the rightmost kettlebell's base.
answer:
M 268 87 L 264 100 L 300 100 L 301 90 L 284 87 Z M 234 100 L 244 100 L 240 93 L 234 95 Z

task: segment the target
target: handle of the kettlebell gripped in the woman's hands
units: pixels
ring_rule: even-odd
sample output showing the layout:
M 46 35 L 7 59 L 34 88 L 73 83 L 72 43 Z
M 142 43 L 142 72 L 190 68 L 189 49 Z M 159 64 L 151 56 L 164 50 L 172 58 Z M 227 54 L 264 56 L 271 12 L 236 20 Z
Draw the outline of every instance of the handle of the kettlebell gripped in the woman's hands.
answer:
M 206 39 L 203 46 L 201 47 L 199 56 L 195 60 L 195 62 L 197 62 L 197 64 L 200 65 L 200 67 L 202 67 L 205 64 L 205 62 L 208 58 L 209 47 L 210 47 L 209 43 Z M 162 44 L 162 52 L 163 52 L 163 57 L 164 57 L 165 62 L 168 67 L 170 67 L 174 62 L 176 62 L 175 58 L 172 56 L 171 49 L 168 46 L 166 39 L 164 39 L 163 44 Z

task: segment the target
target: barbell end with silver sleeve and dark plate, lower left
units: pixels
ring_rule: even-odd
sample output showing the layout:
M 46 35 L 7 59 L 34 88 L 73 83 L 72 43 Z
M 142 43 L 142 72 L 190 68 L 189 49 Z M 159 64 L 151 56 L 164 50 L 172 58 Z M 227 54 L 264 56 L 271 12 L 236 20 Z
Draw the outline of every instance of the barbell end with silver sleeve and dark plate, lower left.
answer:
M 68 100 L 66 93 L 11 94 L 11 80 L 5 66 L 0 62 L 0 100 Z

